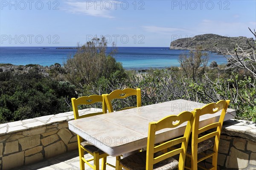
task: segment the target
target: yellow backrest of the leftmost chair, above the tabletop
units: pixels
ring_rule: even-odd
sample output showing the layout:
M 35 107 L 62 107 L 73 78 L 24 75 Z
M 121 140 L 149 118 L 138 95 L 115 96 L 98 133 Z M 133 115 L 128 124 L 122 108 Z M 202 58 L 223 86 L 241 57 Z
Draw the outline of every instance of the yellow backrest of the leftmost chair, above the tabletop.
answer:
M 75 119 L 80 119 L 80 118 L 84 118 L 84 117 L 90 117 L 90 116 L 107 113 L 107 107 L 106 107 L 103 96 L 100 96 L 100 95 L 82 96 L 77 99 L 72 98 L 71 101 L 72 101 L 72 107 L 73 107 Z M 79 116 L 79 112 L 78 112 L 79 105 L 91 105 L 96 102 L 102 103 L 102 112 L 87 113 L 85 115 Z

